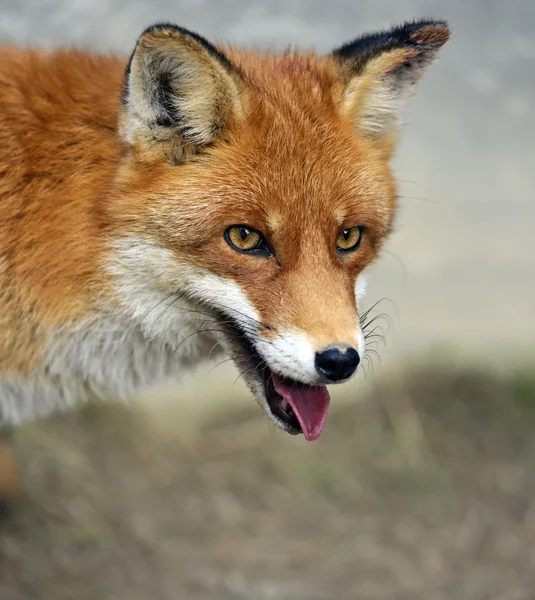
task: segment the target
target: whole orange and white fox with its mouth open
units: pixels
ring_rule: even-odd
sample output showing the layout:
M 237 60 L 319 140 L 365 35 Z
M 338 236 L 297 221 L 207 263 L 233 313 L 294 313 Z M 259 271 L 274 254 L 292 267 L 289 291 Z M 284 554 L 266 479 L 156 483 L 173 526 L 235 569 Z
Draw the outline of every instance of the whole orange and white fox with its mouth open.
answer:
M 129 59 L 3 47 L 0 426 L 225 355 L 316 440 L 364 356 L 400 110 L 449 37 L 414 20 L 277 53 L 158 23 Z

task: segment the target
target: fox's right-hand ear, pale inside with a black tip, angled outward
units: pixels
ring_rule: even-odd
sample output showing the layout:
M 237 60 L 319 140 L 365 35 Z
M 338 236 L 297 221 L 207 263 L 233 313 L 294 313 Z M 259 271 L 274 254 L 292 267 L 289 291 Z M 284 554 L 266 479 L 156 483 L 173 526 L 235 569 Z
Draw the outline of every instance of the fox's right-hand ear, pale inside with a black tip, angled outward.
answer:
M 361 134 L 392 150 L 400 108 L 449 37 L 443 21 L 415 21 L 332 52 L 345 82 L 341 111 Z

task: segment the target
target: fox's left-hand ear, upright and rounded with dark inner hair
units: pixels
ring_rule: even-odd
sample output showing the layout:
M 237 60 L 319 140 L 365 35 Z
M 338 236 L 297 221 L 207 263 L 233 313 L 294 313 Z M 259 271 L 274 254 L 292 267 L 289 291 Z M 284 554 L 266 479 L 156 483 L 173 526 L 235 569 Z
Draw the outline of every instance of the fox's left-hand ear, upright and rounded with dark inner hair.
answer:
M 240 118 L 239 84 L 236 69 L 207 40 L 154 25 L 126 69 L 123 137 L 142 160 L 180 162 Z

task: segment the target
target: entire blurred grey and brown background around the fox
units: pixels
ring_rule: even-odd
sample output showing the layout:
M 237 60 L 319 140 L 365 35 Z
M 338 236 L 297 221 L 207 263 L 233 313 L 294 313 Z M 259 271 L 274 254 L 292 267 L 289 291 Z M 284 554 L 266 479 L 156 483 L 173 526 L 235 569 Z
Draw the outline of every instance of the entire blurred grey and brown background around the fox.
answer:
M 225 365 L 15 432 L 2 600 L 535 598 L 535 3 L 0 0 L 0 40 L 126 56 L 172 21 L 323 52 L 422 16 L 454 35 L 403 115 L 367 376 L 315 444 Z

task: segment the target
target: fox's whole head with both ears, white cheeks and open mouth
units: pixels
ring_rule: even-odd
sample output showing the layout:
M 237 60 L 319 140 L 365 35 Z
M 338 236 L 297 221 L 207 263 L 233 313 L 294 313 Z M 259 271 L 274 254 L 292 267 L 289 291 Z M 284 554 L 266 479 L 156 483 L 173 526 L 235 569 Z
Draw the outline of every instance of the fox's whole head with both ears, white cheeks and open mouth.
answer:
M 177 319 L 197 313 L 266 413 L 309 440 L 325 385 L 364 354 L 361 273 L 392 228 L 399 109 L 448 37 L 418 21 L 325 56 L 273 55 L 164 24 L 130 59 L 121 301 L 148 336 L 165 335 L 151 311 L 167 298 Z

